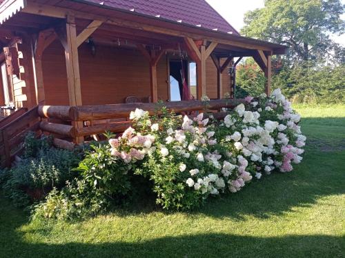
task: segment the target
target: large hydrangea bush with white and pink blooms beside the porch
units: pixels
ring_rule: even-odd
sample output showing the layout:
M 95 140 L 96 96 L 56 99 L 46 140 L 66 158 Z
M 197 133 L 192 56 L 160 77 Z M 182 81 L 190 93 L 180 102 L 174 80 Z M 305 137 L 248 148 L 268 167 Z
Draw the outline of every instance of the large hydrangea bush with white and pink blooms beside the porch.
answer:
M 209 99 L 203 101 L 207 107 Z M 114 180 L 126 181 L 129 189 L 129 175 L 146 177 L 152 181 L 157 204 L 190 210 L 208 197 L 237 192 L 273 171 L 293 170 L 293 164 L 302 161 L 306 137 L 290 102 L 280 90 L 245 101 L 223 109 L 220 120 L 212 112 L 183 117 L 163 107 L 161 115 L 150 117 L 137 109 L 130 113 L 133 126 L 103 148 L 108 152 L 107 170 L 97 175 L 106 174 L 108 181 L 95 178 L 92 160 L 83 175 L 97 189 L 112 186 L 104 191 L 107 195 L 121 187 Z

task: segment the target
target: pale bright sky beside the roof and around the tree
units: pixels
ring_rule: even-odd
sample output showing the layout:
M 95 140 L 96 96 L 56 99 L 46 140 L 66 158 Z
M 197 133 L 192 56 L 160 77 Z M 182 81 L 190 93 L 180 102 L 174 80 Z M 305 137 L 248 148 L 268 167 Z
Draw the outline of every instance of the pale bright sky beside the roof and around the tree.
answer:
M 249 10 L 255 10 L 257 8 L 264 7 L 264 0 L 206 0 L 222 17 L 224 17 L 228 23 L 231 24 L 237 31 L 241 30 L 244 26 L 243 18 L 244 14 Z M 342 0 L 345 4 L 345 0 Z M 342 15 L 342 19 L 345 19 L 345 14 Z M 345 34 L 342 36 L 332 35 L 332 39 L 345 46 Z

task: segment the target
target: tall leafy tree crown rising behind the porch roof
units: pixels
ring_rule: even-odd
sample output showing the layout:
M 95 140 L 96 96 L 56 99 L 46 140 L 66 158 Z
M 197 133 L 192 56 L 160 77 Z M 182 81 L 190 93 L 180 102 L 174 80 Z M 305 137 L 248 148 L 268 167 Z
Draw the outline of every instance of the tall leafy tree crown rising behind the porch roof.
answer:
M 330 39 L 343 34 L 340 0 L 266 0 L 265 7 L 245 14 L 242 34 L 290 46 L 293 61 L 344 61 L 337 53 L 344 48 Z

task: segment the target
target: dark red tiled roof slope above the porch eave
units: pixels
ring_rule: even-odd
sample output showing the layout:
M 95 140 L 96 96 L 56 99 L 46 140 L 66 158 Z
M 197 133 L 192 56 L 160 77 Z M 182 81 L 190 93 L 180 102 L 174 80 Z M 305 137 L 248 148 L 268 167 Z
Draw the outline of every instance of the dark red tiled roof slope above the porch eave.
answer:
M 181 21 L 201 28 L 239 34 L 205 0 L 86 0 L 112 8 L 134 10 L 141 14 Z

